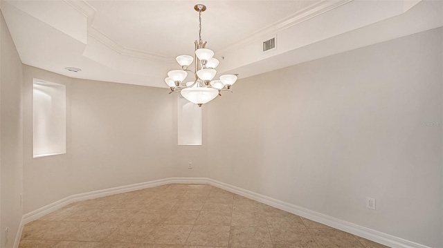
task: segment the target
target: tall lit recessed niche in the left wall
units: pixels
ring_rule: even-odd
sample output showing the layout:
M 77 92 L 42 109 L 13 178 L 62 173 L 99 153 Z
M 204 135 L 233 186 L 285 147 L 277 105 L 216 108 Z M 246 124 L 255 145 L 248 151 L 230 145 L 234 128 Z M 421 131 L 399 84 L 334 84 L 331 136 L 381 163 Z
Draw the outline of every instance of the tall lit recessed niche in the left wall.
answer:
M 34 158 L 66 153 L 66 86 L 34 79 Z

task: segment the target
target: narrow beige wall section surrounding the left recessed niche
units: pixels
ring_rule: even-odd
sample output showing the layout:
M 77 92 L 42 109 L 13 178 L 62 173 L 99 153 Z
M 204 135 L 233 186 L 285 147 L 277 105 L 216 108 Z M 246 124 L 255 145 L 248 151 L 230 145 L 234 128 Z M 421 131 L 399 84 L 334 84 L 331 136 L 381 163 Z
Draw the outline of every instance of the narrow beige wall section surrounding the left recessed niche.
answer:
M 71 195 L 71 82 L 73 79 L 23 66 L 24 104 L 24 212 L 38 209 Z M 66 153 L 33 158 L 33 80 L 66 86 Z

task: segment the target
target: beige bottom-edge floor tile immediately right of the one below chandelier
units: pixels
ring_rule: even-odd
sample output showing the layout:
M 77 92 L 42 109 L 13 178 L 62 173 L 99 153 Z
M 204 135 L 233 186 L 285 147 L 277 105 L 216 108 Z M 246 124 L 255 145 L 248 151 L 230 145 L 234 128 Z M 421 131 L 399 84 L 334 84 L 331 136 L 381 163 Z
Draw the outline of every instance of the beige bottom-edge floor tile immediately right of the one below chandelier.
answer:
M 229 247 L 272 248 L 266 227 L 230 227 Z

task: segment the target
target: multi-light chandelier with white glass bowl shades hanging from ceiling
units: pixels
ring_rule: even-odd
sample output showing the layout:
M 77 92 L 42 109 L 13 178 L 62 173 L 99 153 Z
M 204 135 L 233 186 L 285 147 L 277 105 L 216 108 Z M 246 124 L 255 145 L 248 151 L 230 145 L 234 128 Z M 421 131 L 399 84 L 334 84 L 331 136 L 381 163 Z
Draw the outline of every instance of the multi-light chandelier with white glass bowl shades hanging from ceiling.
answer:
M 221 90 L 232 92 L 230 87 L 237 81 L 237 75 L 221 75 L 219 80 L 213 80 L 219 60 L 213 57 L 213 50 L 206 48 L 206 41 L 201 40 L 201 12 L 206 10 L 206 6 L 197 4 L 194 9 L 199 12 L 199 40 L 195 41 L 195 58 L 190 55 L 177 56 L 181 70 L 170 70 L 165 83 L 170 87 L 170 93 L 179 92 L 189 102 L 201 107 L 221 95 Z M 195 71 L 188 70 L 194 60 Z M 195 80 L 183 82 L 188 77 L 188 72 L 194 73 Z

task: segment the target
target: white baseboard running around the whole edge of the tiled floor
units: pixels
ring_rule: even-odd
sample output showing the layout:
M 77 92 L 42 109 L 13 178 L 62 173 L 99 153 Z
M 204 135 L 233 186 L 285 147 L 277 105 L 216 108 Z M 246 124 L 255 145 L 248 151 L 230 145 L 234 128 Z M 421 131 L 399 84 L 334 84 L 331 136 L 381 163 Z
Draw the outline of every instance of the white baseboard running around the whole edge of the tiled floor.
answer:
M 298 216 L 302 216 L 303 218 L 307 218 L 309 220 L 314 220 L 316 222 L 320 222 L 324 225 L 328 225 L 330 227 L 334 227 L 336 229 L 346 231 L 348 233 L 352 233 L 356 236 L 360 236 L 366 238 L 368 240 L 372 240 L 374 242 L 378 242 L 383 245 L 387 245 L 392 248 L 431 248 L 425 245 L 417 244 L 416 242 L 412 242 L 409 240 L 405 240 L 403 238 L 398 238 L 395 236 L 391 236 L 387 233 L 382 233 L 381 231 L 376 231 L 374 229 L 369 229 L 367 227 L 362 227 L 360 225 L 355 225 L 354 223 L 347 222 L 344 220 L 339 220 L 337 218 L 333 218 L 331 216 L 326 216 L 323 213 L 318 213 L 316 211 L 311 211 L 309 209 L 305 209 L 302 207 L 298 207 L 294 204 L 290 204 L 288 202 L 283 202 L 281 200 L 276 200 L 274 198 L 267 197 L 266 195 L 260 195 L 259 193 L 255 193 L 253 191 L 248 191 L 246 189 L 241 189 L 239 187 L 235 187 L 230 184 L 226 184 L 224 182 L 219 182 L 217 180 L 213 180 L 210 178 L 166 178 L 162 180 L 155 180 L 150 182 L 142 182 L 138 184 L 131 184 L 122 187 L 115 187 L 111 189 L 103 189 L 99 191 L 91 191 L 87 193 L 80 193 L 76 195 L 71 195 L 62 200 L 58 200 L 57 202 L 53 202 L 44 207 L 36 209 L 35 211 L 31 211 L 26 213 L 21 219 L 19 233 L 17 233 L 17 237 L 15 239 L 14 248 L 19 246 L 21 231 L 23 230 L 23 226 L 31 222 L 33 220 L 37 220 L 45 216 L 48 213 L 51 213 L 57 209 L 60 209 L 72 202 L 78 202 L 80 200 L 89 200 L 93 198 L 99 198 L 107 195 L 114 195 L 117 193 L 125 193 L 129 191 L 135 191 L 138 189 L 146 189 L 150 187 L 157 187 L 164 184 L 210 184 L 214 187 L 225 189 L 226 191 L 230 191 L 232 193 L 236 193 L 238 195 L 242 195 L 246 198 L 256 200 L 257 202 L 262 202 L 269 206 L 282 209 L 289 213 L 294 213 Z

